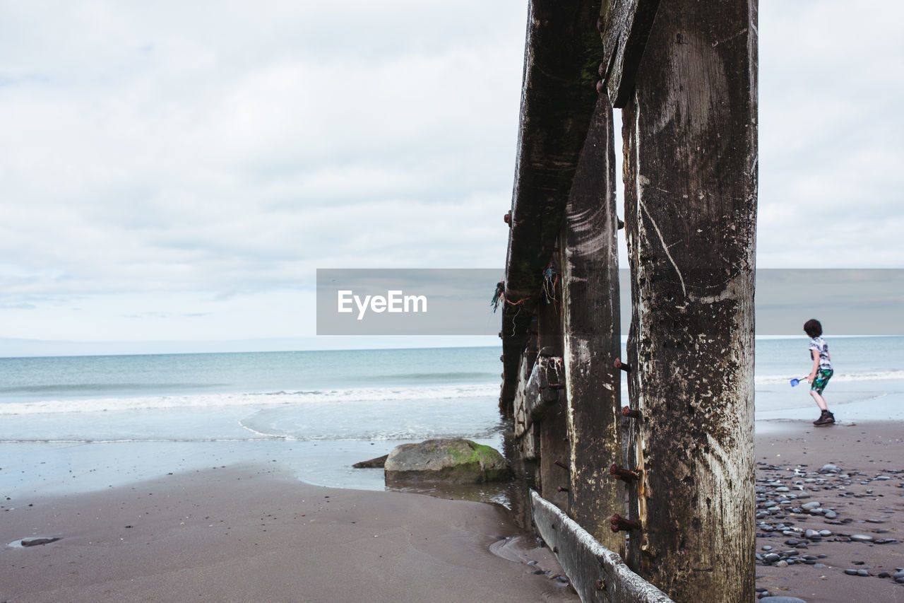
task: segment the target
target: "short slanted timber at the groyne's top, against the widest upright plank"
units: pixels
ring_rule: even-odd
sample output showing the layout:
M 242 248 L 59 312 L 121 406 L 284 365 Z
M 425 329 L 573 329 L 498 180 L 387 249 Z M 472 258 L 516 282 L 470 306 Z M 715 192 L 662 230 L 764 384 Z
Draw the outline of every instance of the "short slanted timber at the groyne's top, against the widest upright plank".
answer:
M 658 9 L 659 0 L 603 0 L 600 7 L 604 80 L 612 104 L 619 109 L 634 91 L 637 68 Z

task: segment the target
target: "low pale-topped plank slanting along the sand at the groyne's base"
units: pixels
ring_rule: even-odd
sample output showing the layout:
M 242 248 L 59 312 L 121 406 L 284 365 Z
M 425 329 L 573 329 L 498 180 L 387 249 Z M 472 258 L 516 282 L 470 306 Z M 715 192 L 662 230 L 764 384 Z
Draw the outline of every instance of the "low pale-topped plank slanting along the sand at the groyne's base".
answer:
M 543 500 L 536 491 L 531 492 L 531 506 L 534 526 L 555 552 L 581 601 L 673 603 L 664 592 L 629 570 L 621 557 L 594 540 L 578 522 Z

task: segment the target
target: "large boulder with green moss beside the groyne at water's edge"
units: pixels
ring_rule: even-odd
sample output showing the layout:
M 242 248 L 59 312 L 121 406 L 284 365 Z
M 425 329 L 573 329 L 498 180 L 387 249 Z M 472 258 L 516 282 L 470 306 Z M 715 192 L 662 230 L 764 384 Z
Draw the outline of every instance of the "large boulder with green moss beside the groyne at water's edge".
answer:
M 465 439 L 398 445 L 386 459 L 384 469 L 388 483 L 485 483 L 511 476 L 499 451 Z

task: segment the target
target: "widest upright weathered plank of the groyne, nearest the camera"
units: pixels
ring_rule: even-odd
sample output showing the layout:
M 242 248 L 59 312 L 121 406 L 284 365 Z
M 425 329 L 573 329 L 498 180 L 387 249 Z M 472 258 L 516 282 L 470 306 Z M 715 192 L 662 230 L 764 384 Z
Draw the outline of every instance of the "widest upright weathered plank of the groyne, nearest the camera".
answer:
M 756 25 L 756 0 L 662 3 L 623 113 L 644 470 L 627 561 L 679 601 L 754 598 Z

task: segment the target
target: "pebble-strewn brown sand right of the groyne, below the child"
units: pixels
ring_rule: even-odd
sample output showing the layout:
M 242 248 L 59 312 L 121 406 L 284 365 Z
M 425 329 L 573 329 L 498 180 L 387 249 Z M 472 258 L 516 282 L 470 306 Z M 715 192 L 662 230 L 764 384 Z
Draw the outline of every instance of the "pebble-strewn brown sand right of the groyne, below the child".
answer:
M 772 515 L 760 521 L 833 533 L 814 541 L 801 534 L 789 536 L 783 530 L 767 532 L 760 526 L 757 550 L 761 555 L 796 550 L 798 555 L 818 557 L 816 564 L 825 567 L 758 563 L 758 588 L 807 603 L 904 603 L 904 585 L 880 577 L 883 572 L 893 575 L 896 568 L 904 568 L 904 424 L 842 422 L 815 427 L 809 422 L 787 421 L 772 427 L 757 438 L 757 495 L 771 502 L 788 493 L 804 497 L 778 505 L 786 507 L 778 513 L 781 517 Z M 836 465 L 838 471 L 824 471 L 826 464 Z M 777 487 L 786 487 L 788 492 L 777 492 Z M 837 517 L 790 511 L 814 502 L 833 510 Z M 873 541 L 850 541 L 845 534 Z M 790 539 L 803 542 L 806 549 L 788 545 Z M 763 550 L 764 546 L 772 550 Z M 845 570 L 866 570 L 869 575 L 851 576 Z

